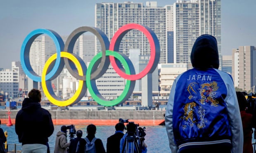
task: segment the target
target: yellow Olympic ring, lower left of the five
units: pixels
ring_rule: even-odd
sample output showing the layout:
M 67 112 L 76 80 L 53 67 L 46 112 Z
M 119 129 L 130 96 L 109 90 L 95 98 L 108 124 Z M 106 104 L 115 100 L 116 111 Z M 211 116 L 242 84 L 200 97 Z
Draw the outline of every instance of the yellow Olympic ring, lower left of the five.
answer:
M 61 51 L 60 52 L 60 57 L 61 58 L 68 58 L 69 60 L 71 60 L 77 67 L 78 70 L 78 74 L 80 76 L 83 76 L 83 68 L 81 63 L 79 62 L 79 60 L 74 56 L 73 53 L 68 53 L 68 52 L 64 52 Z M 45 77 L 47 74 L 47 70 L 50 66 L 50 64 L 57 59 L 57 53 L 53 54 L 45 63 L 45 66 L 43 68 L 43 72 L 42 72 L 42 88 L 43 91 L 45 93 L 45 96 L 48 98 L 48 100 L 50 100 L 50 102 L 52 102 L 53 104 L 57 105 L 57 106 L 68 106 L 70 104 L 72 104 L 73 102 L 75 102 L 76 99 L 78 99 L 78 97 L 80 96 L 81 91 L 83 90 L 83 86 L 85 85 L 85 81 L 83 80 L 79 80 L 79 85 L 78 85 L 78 90 L 76 90 L 76 93 L 69 99 L 69 100 L 60 100 L 57 96 L 56 97 L 52 97 L 52 95 L 49 93 L 48 88 L 47 88 L 47 81 L 45 81 Z M 48 81 L 50 82 L 50 81 Z M 50 89 L 52 90 L 52 89 Z

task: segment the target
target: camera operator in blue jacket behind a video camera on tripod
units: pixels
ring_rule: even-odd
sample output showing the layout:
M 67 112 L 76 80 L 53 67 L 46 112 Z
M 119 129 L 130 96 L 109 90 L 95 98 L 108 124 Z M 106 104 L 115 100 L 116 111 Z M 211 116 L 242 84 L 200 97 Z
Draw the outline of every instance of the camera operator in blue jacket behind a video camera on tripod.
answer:
M 129 122 L 126 127 L 127 132 L 120 140 L 120 153 L 147 153 L 147 145 L 145 143 L 139 148 L 136 147 L 137 138 L 135 132 L 137 126 L 133 122 Z

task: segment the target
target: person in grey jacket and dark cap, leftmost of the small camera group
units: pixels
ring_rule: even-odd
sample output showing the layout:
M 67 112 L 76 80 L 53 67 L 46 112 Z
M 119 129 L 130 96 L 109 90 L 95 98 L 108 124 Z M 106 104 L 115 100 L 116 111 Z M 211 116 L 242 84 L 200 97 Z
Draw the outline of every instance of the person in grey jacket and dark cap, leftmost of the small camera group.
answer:
M 54 153 L 67 153 L 67 149 L 69 147 L 69 143 L 66 139 L 67 127 L 66 125 L 62 125 L 60 131 L 57 133 L 56 141 L 55 141 L 55 149 Z

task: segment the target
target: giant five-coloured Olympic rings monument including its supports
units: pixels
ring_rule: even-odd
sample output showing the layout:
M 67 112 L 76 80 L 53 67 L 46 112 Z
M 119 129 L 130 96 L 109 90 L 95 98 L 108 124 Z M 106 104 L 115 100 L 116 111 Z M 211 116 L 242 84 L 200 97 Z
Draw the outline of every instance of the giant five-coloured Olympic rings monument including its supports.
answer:
M 133 63 L 130 59 L 119 52 L 119 45 L 122 38 L 130 30 L 139 30 L 147 37 L 150 44 L 150 59 L 149 63 L 140 73 L 135 74 Z M 93 33 L 101 44 L 102 52 L 97 53 L 91 60 L 88 67 L 84 61 L 73 53 L 73 47 L 76 40 L 80 35 L 85 32 Z M 56 46 L 57 53 L 50 56 L 46 61 L 42 71 L 42 75 L 36 74 L 29 61 L 30 47 L 33 41 L 39 35 L 48 35 Z M 92 98 L 100 105 L 114 106 L 121 104 L 128 100 L 133 93 L 135 87 L 135 80 L 142 79 L 142 105 L 152 106 L 152 72 L 156 69 L 160 58 L 160 45 L 156 34 L 147 26 L 130 23 L 122 26 L 116 31 L 111 42 L 107 35 L 102 30 L 95 27 L 83 26 L 75 29 L 66 40 L 64 44 L 62 38 L 53 30 L 36 29 L 30 32 L 21 46 L 20 60 L 21 67 L 25 74 L 33 80 L 33 88 L 38 88 L 38 82 L 41 82 L 42 89 L 48 100 L 57 106 L 69 106 L 79 102 L 85 95 L 87 89 L 90 92 Z M 116 62 L 119 60 L 119 62 Z M 126 79 L 126 86 L 123 89 L 123 93 L 115 100 L 106 100 L 100 95 L 97 89 L 96 79 L 99 79 L 108 69 L 109 64 L 113 66 L 119 76 Z M 120 64 L 121 63 L 121 64 Z M 57 97 L 52 89 L 51 80 L 55 79 L 63 70 L 66 65 L 67 70 L 73 77 L 78 79 L 78 90 L 69 100 L 61 100 Z

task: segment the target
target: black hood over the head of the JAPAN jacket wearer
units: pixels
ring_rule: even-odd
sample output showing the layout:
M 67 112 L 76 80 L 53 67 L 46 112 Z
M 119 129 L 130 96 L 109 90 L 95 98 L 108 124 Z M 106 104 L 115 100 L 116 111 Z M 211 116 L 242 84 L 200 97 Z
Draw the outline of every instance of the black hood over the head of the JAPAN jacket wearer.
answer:
M 192 66 L 198 69 L 219 68 L 218 44 L 212 35 L 197 37 L 192 47 L 190 60 Z

